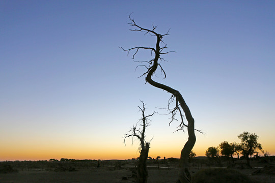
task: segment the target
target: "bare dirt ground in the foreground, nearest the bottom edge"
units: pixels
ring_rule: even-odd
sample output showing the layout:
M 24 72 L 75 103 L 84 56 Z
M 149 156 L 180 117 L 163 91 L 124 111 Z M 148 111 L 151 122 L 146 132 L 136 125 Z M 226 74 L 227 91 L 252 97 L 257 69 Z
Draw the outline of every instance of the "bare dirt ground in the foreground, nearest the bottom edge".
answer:
M 190 169 L 191 174 L 195 174 L 199 169 Z M 263 183 L 274 183 L 274 174 L 256 173 L 260 169 L 238 170 L 248 175 L 254 180 Z M 148 183 L 174 183 L 177 179 L 178 169 L 158 169 L 149 168 Z M 90 170 L 79 170 L 73 172 L 54 172 L 54 171 L 19 171 L 18 173 L 0 174 L 0 183 L 115 183 L 115 182 L 133 182 L 131 177 L 131 168 L 97 168 Z

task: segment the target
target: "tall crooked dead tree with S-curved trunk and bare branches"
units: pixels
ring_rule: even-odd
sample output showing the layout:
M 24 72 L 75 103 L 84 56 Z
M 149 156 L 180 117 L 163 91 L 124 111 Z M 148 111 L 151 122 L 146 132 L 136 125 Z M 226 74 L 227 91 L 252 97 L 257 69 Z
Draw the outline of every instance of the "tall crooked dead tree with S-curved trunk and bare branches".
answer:
M 134 19 L 131 18 L 130 16 L 129 16 L 129 18 L 130 18 L 131 22 L 128 24 L 130 24 L 130 26 L 133 27 L 133 29 L 130 29 L 130 31 L 143 32 L 144 35 L 149 34 L 151 36 L 156 37 L 155 47 L 141 46 L 141 47 L 133 47 L 130 49 L 123 49 L 123 48 L 121 48 L 121 49 L 123 49 L 124 51 L 127 51 L 128 55 L 129 55 L 130 51 L 133 51 L 132 59 L 134 59 L 135 55 L 140 50 L 149 50 L 151 52 L 151 55 L 153 56 L 152 59 L 147 60 L 147 61 L 135 61 L 135 62 L 141 63 L 142 65 L 140 65 L 140 66 L 144 66 L 146 68 L 146 72 L 144 74 L 142 74 L 140 77 L 145 76 L 146 82 L 153 85 L 154 87 L 160 88 L 162 90 L 166 90 L 167 92 L 172 94 L 172 96 L 168 102 L 168 110 L 172 114 L 170 124 L 174 120 L 178 121 L 178 119 L 176 118 L 176 114 L 178 113 L 179 118 L 180 118 L 179 119 L 180 124 L 178 126 L 178 130 L 184 130 L 184 127 L 186 127 L 187 132 L 188 132 L 188 140 L 185 143 L 183 149 L 181 150 L 181 154 L 180 154 L 179 178 L 178 178 L 177 182 L 180 182 L 180 183 L 190 182 L 190 173 L 188 170 L 188 156 L 196 142 L 196 135 L 195 135 L 196 129 L 194 128 L 195 120 L 194 120 L 193 116 L 191 115 L 191 112 L 190 112 L 188 106 L 186 105 L 182 95 L 179 93 L 178 90 L 176 90 L 172 87 L 169 87 L 167 85 L 161 84 L 159 82 L 156 82 L 152 79 L 152 77 L 154 76 L 154 74 L 157 70 L 160 70 L 164 74 L 164 78 L 166 78 L 166 73 L 162 69 L 160 63 L 161 63 L 161 61 L 164 60 L 162 58 L 162 55 L 168 54 L 170 52 L 174 52 L 174 51 L 164 51 L 164 49 L 167 48 L 167 44 L 163 42 L 163 37 L 169 35 L 168 34 L 169 31 L 166 34 L 158 34 L 155 32 L 155 29 L 157 26 L 155 26 L 154 24 L 152 25 L 152 29 L 147 29 L 147 28 L 141 27 L 140 25 L 137 25 L 135 23 Z M 137 66 L 137 67 L 139 67 L 139 66 Z M 171 107 L 171 105 L 174 105 L 174 106 Z M 185 114 L 187 124 L 185 124 L 183 121 L 183 119 L 184 119 L 183 112 Z

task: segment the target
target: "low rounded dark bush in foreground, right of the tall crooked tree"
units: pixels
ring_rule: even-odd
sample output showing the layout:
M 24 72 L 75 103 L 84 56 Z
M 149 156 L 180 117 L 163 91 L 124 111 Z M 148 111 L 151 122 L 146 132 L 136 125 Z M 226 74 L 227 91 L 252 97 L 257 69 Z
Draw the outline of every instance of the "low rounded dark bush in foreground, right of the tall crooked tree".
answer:
M 204 169 L 192 176 L 194 183 L 252 183 L 248 176 L 241 174 L 236 170 L 211 168 Z

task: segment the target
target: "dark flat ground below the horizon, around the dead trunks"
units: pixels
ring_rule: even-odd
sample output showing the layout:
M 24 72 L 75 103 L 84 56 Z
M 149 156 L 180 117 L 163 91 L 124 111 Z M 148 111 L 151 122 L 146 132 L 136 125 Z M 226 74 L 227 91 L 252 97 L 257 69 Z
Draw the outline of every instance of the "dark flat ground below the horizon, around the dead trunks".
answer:
M 273 158 L 274 159 L 274 158 Z M 275 164 L 273 159 L 266 161 L 258 159 L 252 161 L 254 168 L 245 167 L 245 161 L 237 160 L 232 166 L 244 175 L 247 175 L 252 182 L 274 183 Z M 22 161 L 22 162 L 1 162 L 2 173 L 0 183 L 117 183 L 134 182 L 134 165 L 137 160 L 110 160 L 110 161 Z M 148 161 L 149 177 L 148 183 L 174 183 L 178 177 L 178 160 L 150 160 Z M 221 163 L 222 162 L 222 163 Z M 191 176 L 195 177 L 198 171 L 214 168 L 226 169 L 227 161 L 211 162 L 205 158 L 197 158 L 190 163 Z M 8 173 L 3 173 L 3 168 Z M 1 172 L 1 171 L 0 171 Z M 208 175 L 207 175 L 208 177 Z M 207 178 L 206 177 L 206 178 Z

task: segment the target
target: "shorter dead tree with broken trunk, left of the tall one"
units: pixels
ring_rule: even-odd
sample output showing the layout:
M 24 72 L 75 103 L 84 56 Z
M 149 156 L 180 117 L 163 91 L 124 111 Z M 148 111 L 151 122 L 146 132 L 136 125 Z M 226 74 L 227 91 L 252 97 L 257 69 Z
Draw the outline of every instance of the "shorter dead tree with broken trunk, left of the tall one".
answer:
M 148 158 L 150 141 L 146 142 L 146 140 L 145 140 L 145 137 L 146 137 L 145 130 L 150 125 L 150 121 L 151 121 L 148 117 L 154 115 L 156 112 L 154 111 L 150 115 L 145 115 L 145 105 L 146 104 L 144 104 L 143 101 L 141 101 L 141 102 L 143 104 L 143 107 L 139 106 L 139 109 L 142 112 L 142 118 L 140 118 L 139 123 L 137 123 L 135 126 L 133 126 L 133 128 L 131 128 L 129 133 L 125 134 L 124 144 L 126 144 L 125 143 L 126 138 L 132 137 L 132 140 L 134 138 L 139 139 L 139 141 L 140 141 L 140 147 L 139 147 L 140 157 L 139 157 L 139 163 L 137 165 L 136 180 L 139 183 L 146 183 L 147 178 L 148 178 L 148 170 L 147 170 L 147 166 L 146 166 L 146 161 Z M 141 128 L 139 128 L 138 125 L 140 125 Z

